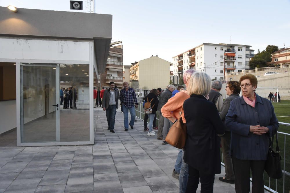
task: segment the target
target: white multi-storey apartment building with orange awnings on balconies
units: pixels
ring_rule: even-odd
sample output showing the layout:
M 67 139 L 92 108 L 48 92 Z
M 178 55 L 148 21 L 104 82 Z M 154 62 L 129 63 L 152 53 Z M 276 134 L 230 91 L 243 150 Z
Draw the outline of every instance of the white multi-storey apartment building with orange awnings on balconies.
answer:
M 249 69 L 254 50 L 250 45 L 203 43 L 173 57 L 174 76 L 183 76 L 189 69 L 206 72 L 211 79 L 222 80 L 225 72 Z

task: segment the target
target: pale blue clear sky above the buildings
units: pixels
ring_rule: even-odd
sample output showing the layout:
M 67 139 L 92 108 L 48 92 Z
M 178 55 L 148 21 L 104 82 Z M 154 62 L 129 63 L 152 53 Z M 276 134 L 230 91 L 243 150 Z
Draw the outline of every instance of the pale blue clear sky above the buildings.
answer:
M 83 1 L 84 4 L 85 0 Z M 69 0 L 0 0 L 0 6 L 71 11 Z M 113 15 L 112 40 L 123 41 L 124 65 L 172 57 L 202 43 L 290 46 L 290 0 L 97 0 L 96 13 Z M 1 18 L 0 18 L 1 19 Z

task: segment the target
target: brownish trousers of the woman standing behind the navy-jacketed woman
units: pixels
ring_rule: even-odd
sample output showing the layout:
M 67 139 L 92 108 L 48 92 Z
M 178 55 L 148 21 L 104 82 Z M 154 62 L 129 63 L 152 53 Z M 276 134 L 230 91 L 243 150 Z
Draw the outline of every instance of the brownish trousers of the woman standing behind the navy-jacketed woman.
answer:
M 226 170 L 225 177 L 228 180 L 235 180 L 232 158 L 230 156 L 231 132 L 226 131 L 220 139 L 222 144 L 222 159 L 224 160 L 224 167 Z

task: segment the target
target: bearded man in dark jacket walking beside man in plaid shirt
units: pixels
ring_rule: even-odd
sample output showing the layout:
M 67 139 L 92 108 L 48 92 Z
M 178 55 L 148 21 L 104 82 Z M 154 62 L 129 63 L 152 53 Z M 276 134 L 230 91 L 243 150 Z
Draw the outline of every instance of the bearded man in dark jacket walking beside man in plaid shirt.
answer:
M 115 133 L 115 115 L 118 109 L 118 100 L 119 100 L 119 90 L 115 89 L 115 83 L 110 82 L 110 89 L 104 91 L 103 95 L 103 110 L 106 111 L 106 117 L 108 122 L 108 130 Z

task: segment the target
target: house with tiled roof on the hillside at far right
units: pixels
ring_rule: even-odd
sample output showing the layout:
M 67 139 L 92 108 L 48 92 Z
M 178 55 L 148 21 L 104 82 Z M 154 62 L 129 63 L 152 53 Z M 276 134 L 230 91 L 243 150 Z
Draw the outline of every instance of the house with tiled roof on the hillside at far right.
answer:
M 280 66 L 290 64 L 290 48 L 282 48 L 271 54 L 271 62 L 267 64 L 270 66 Z

